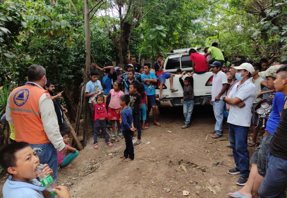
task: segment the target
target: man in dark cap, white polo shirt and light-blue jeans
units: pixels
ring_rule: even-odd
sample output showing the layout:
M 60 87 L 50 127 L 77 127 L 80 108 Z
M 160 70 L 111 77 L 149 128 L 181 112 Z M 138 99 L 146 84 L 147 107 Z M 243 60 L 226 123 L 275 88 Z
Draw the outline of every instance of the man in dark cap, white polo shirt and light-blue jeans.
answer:
M 216 119 L 215 128 L 211 133 L 214 133 L 212 138 L 219 138 L 223 134 L 222 121 L 225 103 L 222 98 L 226 95 L 228 85 L 227 75 L 221 71 L 221 63 L 219 61 L 214 61 L 210 66 L 211 71 L 214 73 L 210 104 L 213 105 L 214 116 Z

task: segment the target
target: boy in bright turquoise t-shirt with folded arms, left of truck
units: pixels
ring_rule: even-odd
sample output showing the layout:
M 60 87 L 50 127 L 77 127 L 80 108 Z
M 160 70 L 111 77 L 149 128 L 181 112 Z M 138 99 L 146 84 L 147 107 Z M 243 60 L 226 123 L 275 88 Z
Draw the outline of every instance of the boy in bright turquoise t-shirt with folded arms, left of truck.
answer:
M 150 64 L 144 64 L 144 74 L 141 74 L 141 81 L 144 84 L 147 93 L 148 109 L 146 115 L 149 115 L 152 108 L 152 115 L 154 118 L 154 125 L 160 127 L 161 124 L 156 121 L 156 108 L 155 108 L 155 83 L 157 82 L 155 73 L 150 72 Z M 148 125 L 146 123 L 146 125 Z

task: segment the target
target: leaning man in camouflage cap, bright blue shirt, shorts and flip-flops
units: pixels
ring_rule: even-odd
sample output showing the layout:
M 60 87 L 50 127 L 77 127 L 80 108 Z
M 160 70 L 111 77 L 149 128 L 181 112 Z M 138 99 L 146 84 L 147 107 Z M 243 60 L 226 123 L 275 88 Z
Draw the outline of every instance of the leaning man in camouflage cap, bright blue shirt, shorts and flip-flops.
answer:
M 266 71 L 259 72 L 261 77 L 266 77 L 266 83 L 269 89 L 274 88 L 274 80 L 276 79 L 276 70 L 281 65 L 275 65 L 267 69 Z M 282 92 L 276 92 L 273 99 L 272 111 L 267 120 L 265 133 L 260 139 L 260 145 L 254 151 L 251 158 L 251 170 L 246 185 L 234 193 L 228 193 L 229 196 L 246 196 L 246 197 L 258 197 L 258 187 L 260 186 L 263 178 L 266 174 L 266 155 L 269 147 L 271 138 L 273 137 L 274 131 L 277 128 L 281 112 L 284 106 L 285 95 Z

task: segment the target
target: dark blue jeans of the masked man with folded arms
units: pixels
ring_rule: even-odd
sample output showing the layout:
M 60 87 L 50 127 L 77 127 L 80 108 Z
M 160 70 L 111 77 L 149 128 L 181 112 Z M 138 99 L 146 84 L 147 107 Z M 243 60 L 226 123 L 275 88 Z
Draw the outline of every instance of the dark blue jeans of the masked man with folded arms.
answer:
M 229 139 L 236 168 L 240 170 L 241 177 L 249 177 L 249 151 L 247 149 L 247 136 L 249 127 L 242 127 L 229 123 Z

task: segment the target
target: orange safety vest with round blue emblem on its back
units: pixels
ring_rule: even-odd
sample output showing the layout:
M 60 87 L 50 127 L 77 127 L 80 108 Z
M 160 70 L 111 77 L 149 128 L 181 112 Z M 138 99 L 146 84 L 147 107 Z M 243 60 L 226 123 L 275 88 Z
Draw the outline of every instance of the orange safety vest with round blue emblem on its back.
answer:
M 44 131 L 39 111 L 39 99 L 49 92 L 34 83 L 15 88 L 10 95 L 11 116 L 15 128 L 16 142 L 44 144 L 50 142 Z

